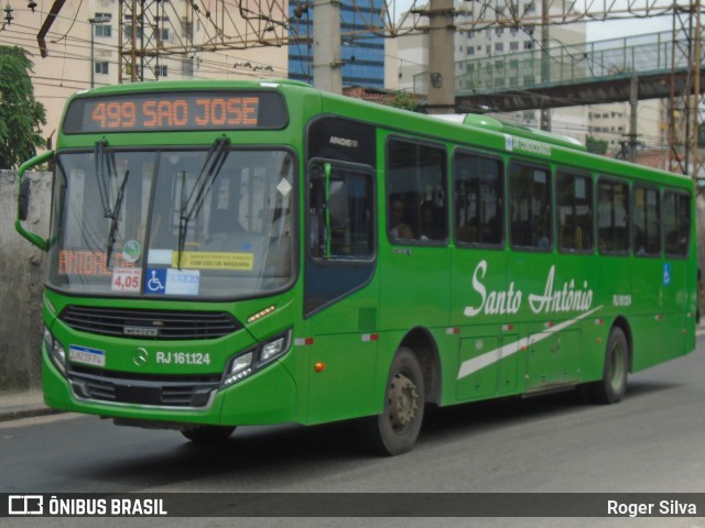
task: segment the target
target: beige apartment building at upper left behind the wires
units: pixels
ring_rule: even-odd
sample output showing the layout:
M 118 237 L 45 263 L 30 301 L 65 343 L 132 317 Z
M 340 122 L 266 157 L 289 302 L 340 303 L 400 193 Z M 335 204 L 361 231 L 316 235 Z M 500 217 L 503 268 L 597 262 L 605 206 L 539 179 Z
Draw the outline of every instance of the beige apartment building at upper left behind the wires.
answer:
M 288 76 L 285 47 L 205 51 L 203 45 L 213 41 L 218 26 L 231 21 L 245 25 L 235 13 L 215 12 L 223 1 L 213 4 L 214 13 L 197 9 L 198 4 L 191 0 L 138 2 L 151 11 L 133 16 L 123 9 L 120 20 L 120 0 L 66 0 L 46 34 L 45 57 L 40 53 L 36 35 L 53 2 L 40 0 L 32 9 L 25 0 L 20 1 L 12 0 L 12 21 L 0 31 L 0 45 L 24 48 L 34 63 L 34 96 L 46 108 L 45 138 L 55 133 L 68 96 L 93 86 L 130 82 L 133 78 L 149 81 Z M 131 45 L 148 51 L 134 62 L 134 70 L 131 57 L 120 56 L 120 37 L 123 52 Z M 149 53 L 158 48 L 159 54 Z

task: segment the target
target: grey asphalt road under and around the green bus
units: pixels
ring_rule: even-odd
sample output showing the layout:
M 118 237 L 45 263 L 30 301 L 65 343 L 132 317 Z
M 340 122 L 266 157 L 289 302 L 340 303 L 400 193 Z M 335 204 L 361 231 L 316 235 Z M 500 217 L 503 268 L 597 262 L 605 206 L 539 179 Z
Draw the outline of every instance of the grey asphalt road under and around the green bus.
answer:
M 705 338 L 688 356 L 630 377 L 627 398 L 574 393 L 433 413 L 416 449 L 371 458 L 349 424 L 240 428 L 217 448 L 175 431 L 58 415 L 0 424 L 0 493 L 705 492 Z M 705 512 L 698 512 L 705 517 Z M 25 519 L 29 520 L 29 519 Z M 373 520 L 373 522 L 372 522 Z M 22 519 L 0 519 L 0 526 Z M 643 526 L 643 519 L 36 519 L 40 526 Z M 26 525 L 23 525 L 26 526 Z

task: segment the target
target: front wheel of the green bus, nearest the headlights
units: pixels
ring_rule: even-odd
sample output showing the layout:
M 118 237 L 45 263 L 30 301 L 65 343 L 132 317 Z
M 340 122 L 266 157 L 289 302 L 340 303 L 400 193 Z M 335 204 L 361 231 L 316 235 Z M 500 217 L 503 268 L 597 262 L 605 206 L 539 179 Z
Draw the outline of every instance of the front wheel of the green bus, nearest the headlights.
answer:
M 368 420 L 368 440 L 378 454 L 393 455 L 410 451 L 423 421 L 423 373 L 416 355 L 400 348 L 387 378 L 384 410 Z

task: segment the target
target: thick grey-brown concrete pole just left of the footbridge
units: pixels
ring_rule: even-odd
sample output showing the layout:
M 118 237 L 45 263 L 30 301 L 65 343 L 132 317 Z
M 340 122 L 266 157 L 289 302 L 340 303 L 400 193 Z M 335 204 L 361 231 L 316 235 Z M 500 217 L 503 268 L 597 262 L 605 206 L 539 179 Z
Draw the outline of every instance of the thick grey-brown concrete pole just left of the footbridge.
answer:
M 431 0 L 429 23 L 429 113 L 455 112 L 455 9 Z

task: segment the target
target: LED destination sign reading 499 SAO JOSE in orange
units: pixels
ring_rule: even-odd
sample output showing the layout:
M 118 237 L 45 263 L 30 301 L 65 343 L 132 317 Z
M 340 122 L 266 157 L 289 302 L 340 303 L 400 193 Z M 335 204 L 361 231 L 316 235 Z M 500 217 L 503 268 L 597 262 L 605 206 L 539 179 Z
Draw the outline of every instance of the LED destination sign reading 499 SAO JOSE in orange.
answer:
M 271 91 L 142 92 L 75 99 L 64 133 L 281 129 L 286 121 L 283 98 Z

